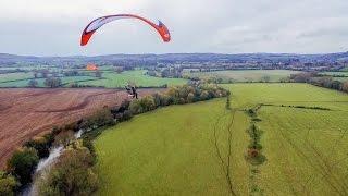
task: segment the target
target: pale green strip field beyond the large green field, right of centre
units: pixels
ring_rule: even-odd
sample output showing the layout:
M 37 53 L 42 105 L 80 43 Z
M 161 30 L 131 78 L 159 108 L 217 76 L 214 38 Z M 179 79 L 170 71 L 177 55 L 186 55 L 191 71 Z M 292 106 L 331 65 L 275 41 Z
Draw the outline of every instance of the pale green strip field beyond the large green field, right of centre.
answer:
M 279 82 L 291 74 L 299 73 L 298 71 L 289 70 L 240 70 L 240 71 L 216 71 L 216 72 L 195 72 L 186 73 L 191 77 L 200 78 L 222 78 L 224 82 L 229 79 L 234 82 L 260 82 L 268 77 L 269 82 Z

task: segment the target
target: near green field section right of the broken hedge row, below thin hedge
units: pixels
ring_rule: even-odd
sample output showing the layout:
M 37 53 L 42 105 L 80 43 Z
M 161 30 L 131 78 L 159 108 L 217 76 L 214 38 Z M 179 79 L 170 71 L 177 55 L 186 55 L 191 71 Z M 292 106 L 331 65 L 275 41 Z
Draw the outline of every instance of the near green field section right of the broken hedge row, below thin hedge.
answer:
M 266 195 L 347 195 L 348 110 L 260 110 L 269 161 L 261 167 Z

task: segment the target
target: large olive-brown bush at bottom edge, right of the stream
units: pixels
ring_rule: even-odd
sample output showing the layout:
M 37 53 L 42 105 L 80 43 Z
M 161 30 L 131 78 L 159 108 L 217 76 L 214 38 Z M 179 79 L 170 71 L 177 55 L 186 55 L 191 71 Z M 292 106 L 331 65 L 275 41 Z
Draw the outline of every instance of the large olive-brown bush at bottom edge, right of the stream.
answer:
M 39 182 L 39 195 L 91 195 L 98 188 L 92 166 L 94 157 L 87 148 L 65 150 Z

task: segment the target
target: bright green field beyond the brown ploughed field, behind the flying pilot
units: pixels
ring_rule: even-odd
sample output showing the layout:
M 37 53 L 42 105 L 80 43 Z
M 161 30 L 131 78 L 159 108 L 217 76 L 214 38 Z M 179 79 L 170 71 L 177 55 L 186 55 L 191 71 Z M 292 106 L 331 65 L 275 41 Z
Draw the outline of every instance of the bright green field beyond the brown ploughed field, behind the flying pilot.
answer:
M 103 79 L 82 82 L 78 84 L 82 85 L 91 85 L 91 86 L 104 86 L 107 88 L 113 87 L 124 87 L 127 83 L 136 84 L 137 86 L 149 87 L 149 86 L 161 86 L 167 84 L 169 86 L 182 85 L 186 83 L 186 79 L 182 78 L 161 78 L 161 77 L 151 77 L 145 75 L 145 70 L 136 71 L 125 71 L 121 74 L 115 72 L 103 72 Z

